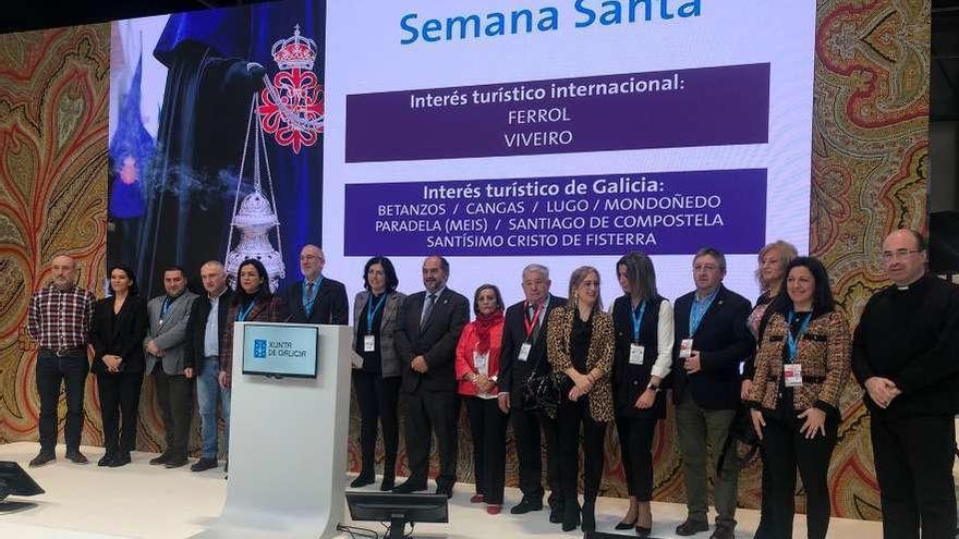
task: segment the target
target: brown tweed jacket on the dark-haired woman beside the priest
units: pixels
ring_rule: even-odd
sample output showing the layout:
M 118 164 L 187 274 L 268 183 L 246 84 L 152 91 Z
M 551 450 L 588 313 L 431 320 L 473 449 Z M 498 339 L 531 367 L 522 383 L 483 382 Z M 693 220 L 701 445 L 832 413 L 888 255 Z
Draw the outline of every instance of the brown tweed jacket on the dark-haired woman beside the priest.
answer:
M 748 403 L 752 407 L 776 409 L 788 331 L 781 313 L 769 317 L 756 352 L 756 372 Z M 793 408 L 816 407 L 837 415 L 839 396 L 851 371 L 849 324 L 842 315 L 833 311 L 812 320 L 799 342 L 793 363 L 802 365 L 802 385 L 793 390 Z

